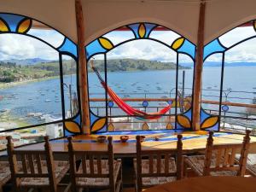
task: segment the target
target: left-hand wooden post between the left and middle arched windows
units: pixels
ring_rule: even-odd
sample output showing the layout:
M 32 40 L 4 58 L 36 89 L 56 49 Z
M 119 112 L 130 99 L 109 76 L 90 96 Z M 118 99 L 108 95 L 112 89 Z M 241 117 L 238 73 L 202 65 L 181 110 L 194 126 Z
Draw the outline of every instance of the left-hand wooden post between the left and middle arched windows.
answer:
M 81 102 L 82 133 L 90 134 L 90 111 L 87 82 L 87 66 L 84 52 L 84 16 L 81 0 L 75 1 L 78 46 L 79 46 L 79 90 Z

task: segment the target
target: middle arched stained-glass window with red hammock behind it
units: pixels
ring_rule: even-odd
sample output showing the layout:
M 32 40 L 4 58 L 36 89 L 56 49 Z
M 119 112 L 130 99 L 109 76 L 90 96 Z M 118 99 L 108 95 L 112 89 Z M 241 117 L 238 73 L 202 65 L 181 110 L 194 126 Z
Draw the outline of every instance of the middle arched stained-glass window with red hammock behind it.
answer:
M 85 50 L 92 132 L 190 129 L 195 45 L 189 40 L 136 23 Z

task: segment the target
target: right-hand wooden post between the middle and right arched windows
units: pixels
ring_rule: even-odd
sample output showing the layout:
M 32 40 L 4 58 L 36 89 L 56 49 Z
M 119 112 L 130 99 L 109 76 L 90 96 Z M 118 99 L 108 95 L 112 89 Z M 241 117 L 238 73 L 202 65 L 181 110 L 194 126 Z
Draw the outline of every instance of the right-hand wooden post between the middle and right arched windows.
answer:
M 195 57 L 195 77 L 194 77 L 194 99 L 193 99 L 193 122 L 192 129 L 200 130 L 201 111 L 201 79 L 204 53 L 204 27 L 205 27 L 206 2 L 201 0 L 199 24 L 197 32 L 197 51 Z

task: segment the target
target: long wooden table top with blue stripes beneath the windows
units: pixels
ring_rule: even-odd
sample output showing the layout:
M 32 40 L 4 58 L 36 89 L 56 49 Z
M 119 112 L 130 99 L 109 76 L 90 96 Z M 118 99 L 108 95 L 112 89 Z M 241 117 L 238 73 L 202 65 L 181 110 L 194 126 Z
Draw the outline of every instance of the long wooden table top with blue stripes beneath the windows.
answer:
M 206 148 L 207 143 L 207 131 L 184 131 L 179 133 L 183 135 L 183 151 L 195 152 Z M 136 154 L 136 137 L 137 134 L 129 135 L 128 143 L 120 143 L 120 135 L 113 134 L 113 153 L 114 154 L 125 154 L 134 155 Z M 145 134 L 146 142 L 142 143 L 145 149 L 165 149 L 165 148 L 176 148 L 177 147 L 177 133 L 157 133 L 157 134 Z M 154 141 L 154 137 L 160 137 L 160 141 Z M 75 149 L 92 151 L 92 150 L 107 150 L 106 143 L 96 143 L 96 137 L 98 135 L 79 135 L 73 137 L 73 145 Z M 229 143 L 242 143 L 243 135 L 239 134 L 228 134 L 228 133 L 214 133 L 213 143 L 214 144 L 229 144 Z M 256 137 L 251 137 L 251 143 L 256 145 Z M 58 139 L 51 141 L 51 147 L 55 153 L 67 153 L 67 138 Z M 44 143 L 37 143 L 21 147 L 21 149 L 32 150 L 32 149 L 43 149 Z M 255 148 L 255 147 L 253 147 Z

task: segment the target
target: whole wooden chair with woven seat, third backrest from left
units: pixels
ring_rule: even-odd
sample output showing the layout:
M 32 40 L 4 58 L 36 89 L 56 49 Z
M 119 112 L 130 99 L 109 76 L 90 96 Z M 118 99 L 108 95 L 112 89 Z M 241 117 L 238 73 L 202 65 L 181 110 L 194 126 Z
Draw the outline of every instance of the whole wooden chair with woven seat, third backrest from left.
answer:
M 147 188 L 182 178 L 182 135 L 177 135 L 177 148 L 173 149 L 143 149 L 141 137 L 137 136 L 136 139 L 137 159 L 133 162 L 137 192 L 141 192 L 144 187 Z

